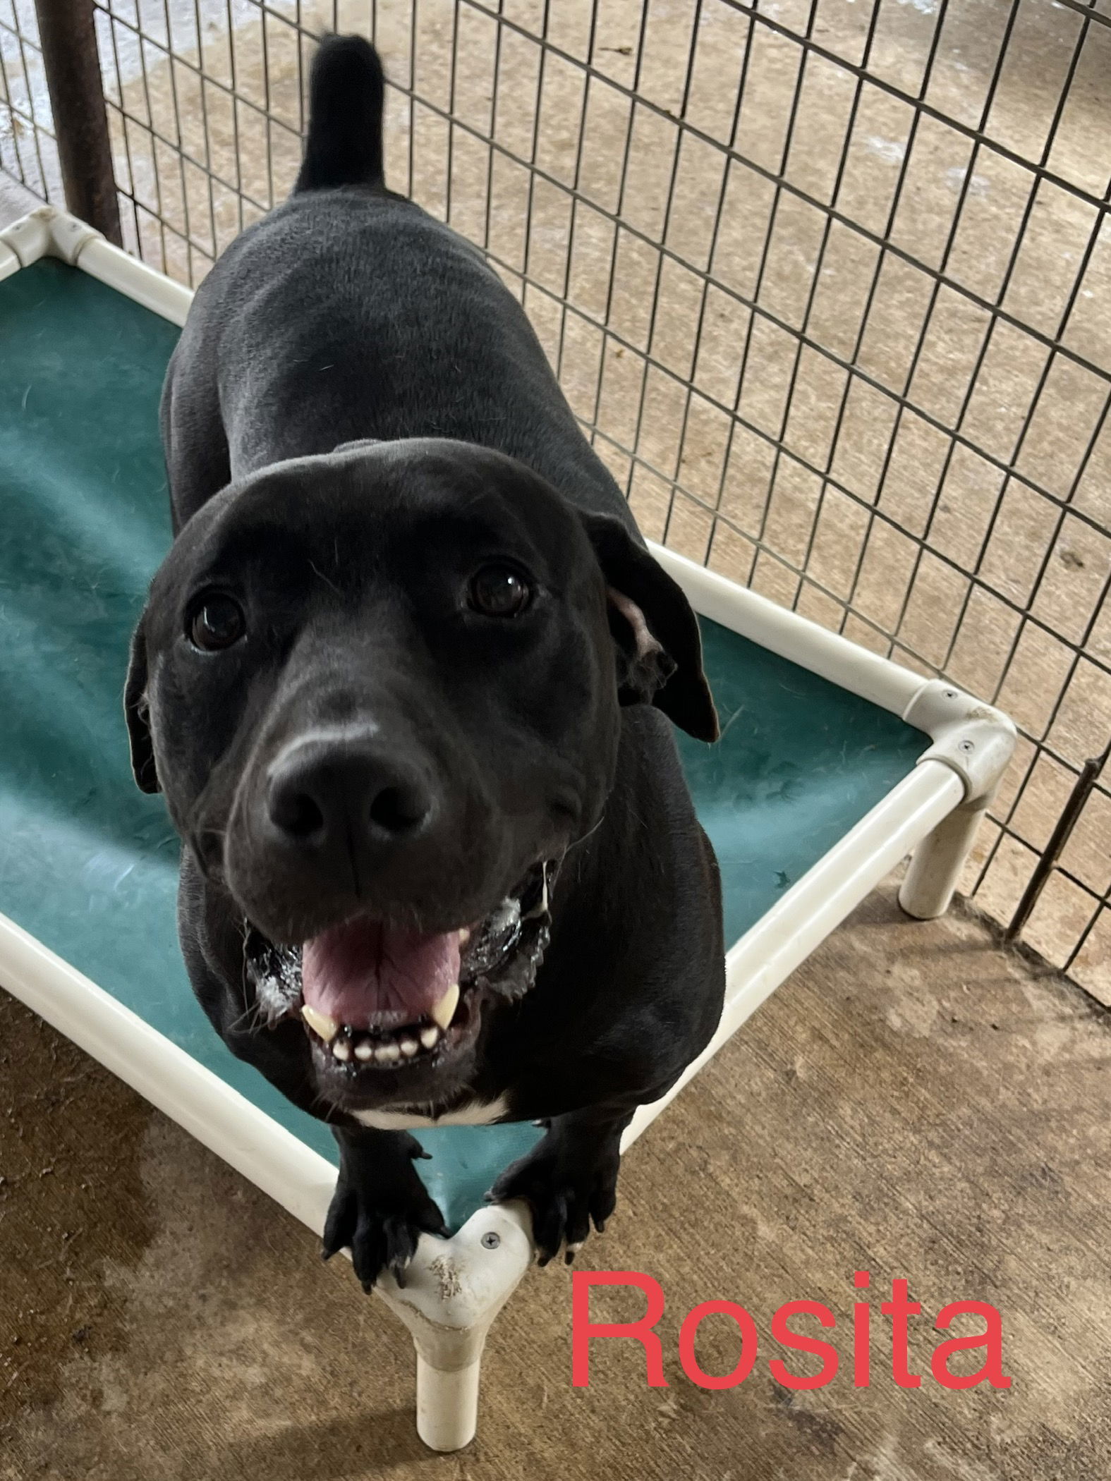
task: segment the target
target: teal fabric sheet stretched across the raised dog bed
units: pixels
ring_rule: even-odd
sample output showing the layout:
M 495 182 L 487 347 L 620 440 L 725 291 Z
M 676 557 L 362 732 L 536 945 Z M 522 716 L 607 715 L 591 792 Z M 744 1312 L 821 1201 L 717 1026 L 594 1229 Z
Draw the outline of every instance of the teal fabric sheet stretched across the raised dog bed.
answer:
M 234 1060 L 194 1003 L 175 936 L 176 840 L 127 764 L 127 638 L 170 538 L 157 404 L 176 335 L 55 261 L 0 283 L 0 911 L 335 1160 L 326 1127 Z M 681 745 L 732 942 L 914 766 L 924 738 L 724 628 L 704 634 L 724 736 Z M 538 1134 L 421 1136 L 453 1226 Z

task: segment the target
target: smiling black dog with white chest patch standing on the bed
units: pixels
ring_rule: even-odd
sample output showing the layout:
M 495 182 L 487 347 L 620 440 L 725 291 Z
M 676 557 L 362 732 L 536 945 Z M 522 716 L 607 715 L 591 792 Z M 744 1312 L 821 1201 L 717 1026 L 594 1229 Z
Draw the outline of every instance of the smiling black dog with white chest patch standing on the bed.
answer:
M 570 1256 L 724 983 L 671 735 L 717 735 L 693 613 L 517 302 L 385 190 L 382 95 L 323 43 L 292 198 L 197 293 L 126 695 L 193 985 L 332 1124 L 324 1253 L 367 1288 L 443 1231 L 430 1121 L 545 1120 L 492 1197 Z

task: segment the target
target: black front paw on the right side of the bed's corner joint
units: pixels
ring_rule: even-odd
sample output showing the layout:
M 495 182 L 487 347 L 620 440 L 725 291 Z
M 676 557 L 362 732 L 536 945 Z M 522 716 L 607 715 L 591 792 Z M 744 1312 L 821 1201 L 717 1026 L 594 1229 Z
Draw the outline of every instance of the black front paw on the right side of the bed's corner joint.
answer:
M 541 1265 L 566 1247 L 566 1262 L 575 1259 L 590 1234 L 591 1220 L 601 1234 L 618 1203 L 619 1155 L 603 1143 L 587 1152 L 550 1131 L 542 1142 L 501 1174 L 489 1203 L 523 1198 L 532 1210 L 532 1240 Z

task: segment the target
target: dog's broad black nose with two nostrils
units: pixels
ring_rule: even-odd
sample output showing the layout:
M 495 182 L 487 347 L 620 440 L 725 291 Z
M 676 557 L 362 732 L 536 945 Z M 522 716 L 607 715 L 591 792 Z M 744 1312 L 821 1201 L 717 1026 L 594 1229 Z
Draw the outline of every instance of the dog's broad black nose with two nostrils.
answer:
M 270 820 L 302 849 L 361 853 L 422 834 L 436 812 L 427 780 L 370 745 L 301 743 L 271 773 Z

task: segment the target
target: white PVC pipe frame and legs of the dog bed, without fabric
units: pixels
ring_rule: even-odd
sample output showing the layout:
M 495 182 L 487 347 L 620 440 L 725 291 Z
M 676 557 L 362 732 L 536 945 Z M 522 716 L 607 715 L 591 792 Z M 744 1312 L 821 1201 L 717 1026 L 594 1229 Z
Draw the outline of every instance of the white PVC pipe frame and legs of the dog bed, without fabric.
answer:
M 41 256 L 61 258 L 170 323 L 185 323 L 193 301 L 188 289 L 49 206 L 0 233 L 0 278 Z M 661 1100 L 640 1106 L 622 1151 L 911 850 L 899 892 L 904 909 L 930 918 L 948 908 L 1015 746 L 1012 721 L 990 705 L 878 658 L 674 551 L 653 545 L 652 552 L 699 613 L 901 715 L 933 743 L 730 946 L 726 1003 L 714 1038 Z M 321 1234 L 335 1186 L 330 1163 L 3 915 L 0 976 L 30 1009 Z M 486 1333 L 532 1257 L 527 1208 L 490 1206 L 450 1240 L 422 1235 L 404 1290 L 391 1277 L 376 1287 L 413 1336 L 416 1428 L 433 1450 L 458 1450 L 474 1437 Z

